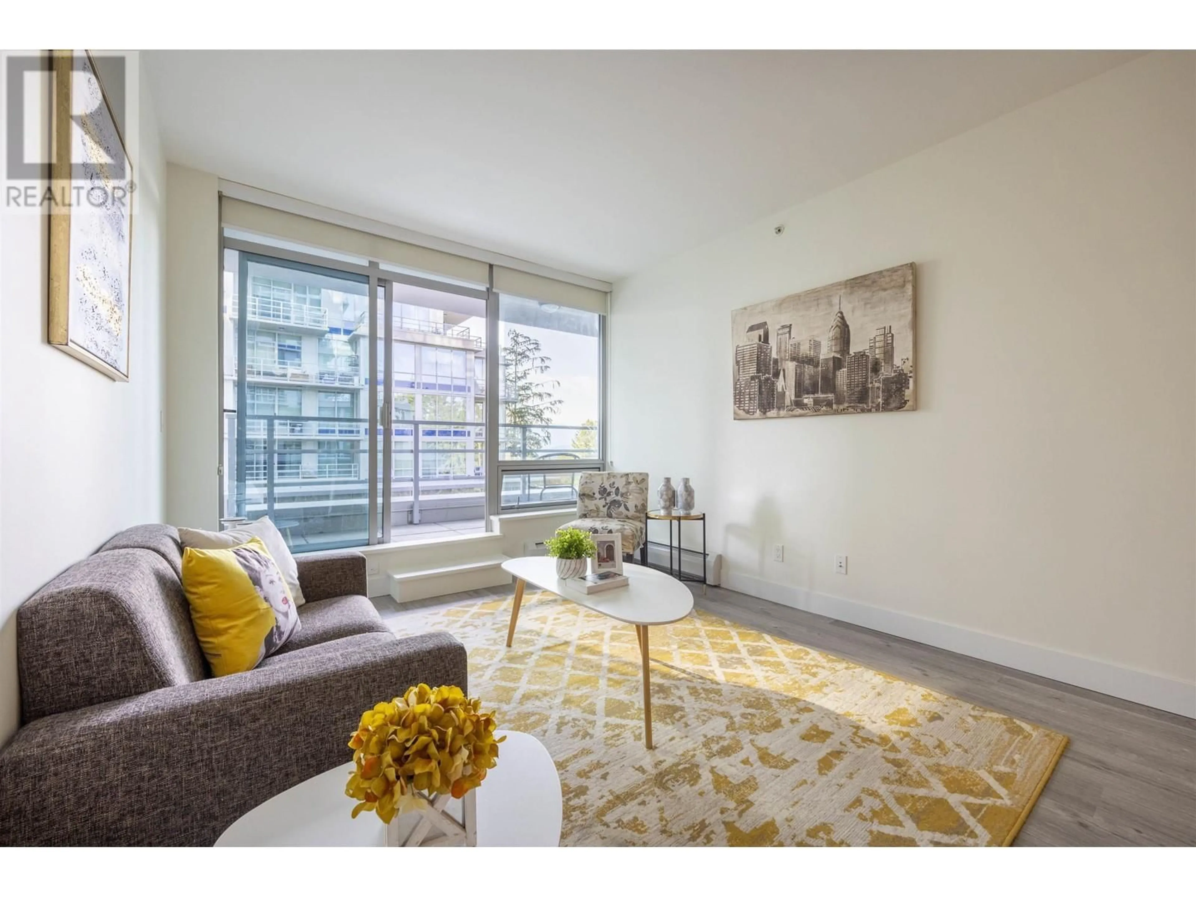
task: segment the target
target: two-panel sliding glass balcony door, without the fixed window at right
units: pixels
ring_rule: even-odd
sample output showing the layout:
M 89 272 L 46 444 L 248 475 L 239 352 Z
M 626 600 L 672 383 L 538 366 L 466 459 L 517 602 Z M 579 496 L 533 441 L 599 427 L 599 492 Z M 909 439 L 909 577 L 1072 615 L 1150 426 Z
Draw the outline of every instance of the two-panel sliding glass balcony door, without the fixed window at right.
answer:
M 297 551 L 486 532 L 488 289 L 225 246 L 222 517 Z

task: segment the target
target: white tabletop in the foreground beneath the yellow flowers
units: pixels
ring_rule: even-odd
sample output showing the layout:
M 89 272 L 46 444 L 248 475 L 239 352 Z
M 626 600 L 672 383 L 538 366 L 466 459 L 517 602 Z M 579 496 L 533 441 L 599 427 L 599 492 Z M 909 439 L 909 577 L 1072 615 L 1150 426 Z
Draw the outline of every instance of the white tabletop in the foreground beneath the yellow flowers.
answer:
M 561 842 L 561 780 L 538 740 L 499 732 L 499 762 L 476 795 L 478 847 L 556 847 Z M 376 813 L 352 817 L 346 797 L 353 763 L 315 775 L 250 810 L 216 840 L 216 847 L 385 847 L 386 826 Z M 466 795 L 466 800 L 469 795 Z M 447 812 L 464 822 L 463 803 Z

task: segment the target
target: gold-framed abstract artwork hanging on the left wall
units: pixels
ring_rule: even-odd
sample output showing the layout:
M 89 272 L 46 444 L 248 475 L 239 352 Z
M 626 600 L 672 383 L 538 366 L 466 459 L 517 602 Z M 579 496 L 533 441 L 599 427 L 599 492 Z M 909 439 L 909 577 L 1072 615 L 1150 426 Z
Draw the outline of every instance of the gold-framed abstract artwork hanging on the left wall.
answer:
M 133 161 L 92 55 L 50 54 L 47 341 L 114 380 L 128 382 Z

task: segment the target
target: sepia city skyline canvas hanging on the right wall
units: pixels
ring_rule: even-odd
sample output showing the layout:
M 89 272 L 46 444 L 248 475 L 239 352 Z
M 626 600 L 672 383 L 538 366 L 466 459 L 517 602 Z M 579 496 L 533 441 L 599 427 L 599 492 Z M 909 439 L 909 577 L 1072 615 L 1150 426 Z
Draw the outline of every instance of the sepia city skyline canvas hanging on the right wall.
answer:
M 734 417 L 910 411 L 914 263 L 732 312 Z

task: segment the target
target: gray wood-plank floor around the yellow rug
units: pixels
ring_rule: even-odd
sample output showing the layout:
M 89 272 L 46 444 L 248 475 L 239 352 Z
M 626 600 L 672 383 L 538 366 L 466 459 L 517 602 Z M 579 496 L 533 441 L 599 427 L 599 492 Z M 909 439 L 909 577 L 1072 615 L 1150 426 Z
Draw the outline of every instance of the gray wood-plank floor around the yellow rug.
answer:
M 399 605 L 384 617 L 513 588 L 459 592 Z M 1018 847 L 1196 846 L 1196 720 L 984 660 L 785 608 L 739 592 L 694 587 L 702 610 L 1070 737 L 1018 835 Z

